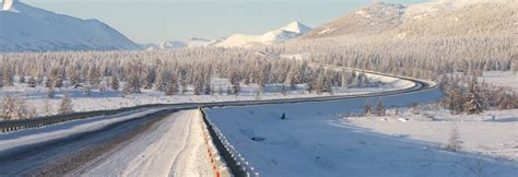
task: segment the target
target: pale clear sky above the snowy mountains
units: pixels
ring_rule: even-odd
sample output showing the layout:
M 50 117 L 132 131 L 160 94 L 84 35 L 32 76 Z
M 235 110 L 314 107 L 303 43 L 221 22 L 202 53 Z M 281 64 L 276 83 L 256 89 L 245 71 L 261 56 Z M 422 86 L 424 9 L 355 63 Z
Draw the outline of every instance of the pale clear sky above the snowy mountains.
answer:
M 318 26 L 376 0 L 21 0 L 80 19 L 98 19 L 136 43 L 262 34 L 298 21 Z M 416 3 L 429 0 L 382 0 Z

